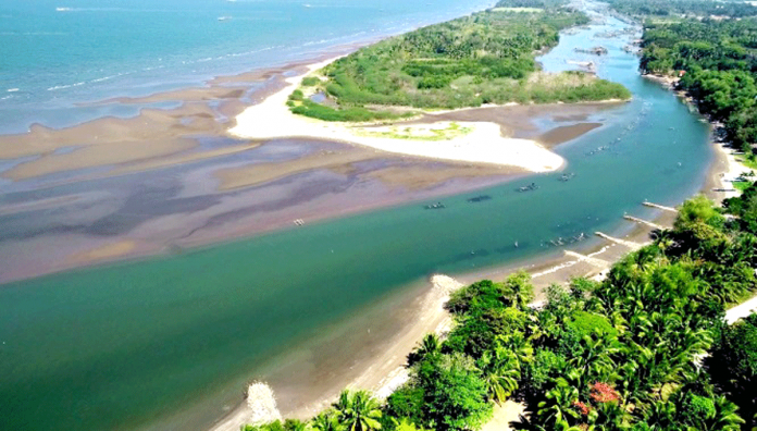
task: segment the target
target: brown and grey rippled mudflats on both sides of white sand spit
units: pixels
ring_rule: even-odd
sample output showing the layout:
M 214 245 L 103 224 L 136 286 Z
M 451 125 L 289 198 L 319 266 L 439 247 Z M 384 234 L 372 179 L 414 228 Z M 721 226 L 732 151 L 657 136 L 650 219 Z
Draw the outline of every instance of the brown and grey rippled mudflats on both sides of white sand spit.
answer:
M 273 79 L 269 85 L 263 96 L 280 83 Z M 211 87 L 206 96 L 213 97 L 216 90 Z M 201 99 L 198 90 L 186 90 L 154 95 L 148 101 L 163 97 Z M 7 178 L 0 195 L 4 257 L 0 283 L 174 255 L 293 229 L 297 220 L 313 223 L 528 174 L 517 167 L 435 161 L 342 143 L 229 138 L 210 112 L 232 115 L 238 112 L 236 103 L 224 99 L 212 108 L 194 102 L 131 120 L 103 119 L 69 130 L 37 127 L 27 135 L 0 136 L 4 157 L 21 156 L 23 148 L 33 148 L 38 140 L 52 143 L 49 153 L 21 156 L 0 167 L 0 177 Z M 499 124 L 506 135 L 555 147 L 592 133 L 607 112 L 618 108 L 612 103 L 484 108 L 438 120 L 480 116 Z M 141 122 L 158 132 L 144 132 Z M 145 136 L 149 138 L 142 140 Z M 94 137 L 97 143 L 87 140 Z

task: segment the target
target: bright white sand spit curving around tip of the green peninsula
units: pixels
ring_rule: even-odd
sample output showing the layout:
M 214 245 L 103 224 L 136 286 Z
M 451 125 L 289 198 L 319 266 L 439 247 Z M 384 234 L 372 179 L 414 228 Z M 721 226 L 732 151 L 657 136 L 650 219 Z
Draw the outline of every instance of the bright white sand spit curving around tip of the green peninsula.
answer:
M 336 59 L 311 64 L 312 73 Z M 468 133 L 444 140 L 430 140 L 423 135 L 430 127 L 447 127 L 450 123 L 432 121 L 425 124 L 402 124 L 410 135 L 407 138 L 383 137 L 387 132 L 365 125 L 345 125 L 293 114 L 286 106 L 287 98 L 307 74 L 286 79 L 287 86 L 268 97 L 263 102 L 247 108 L 236 118 L 236 126 L 229 134 L 247 139 L 274 139 L 308 137 L 358 144 L 375 150 L 417 156 L 436 160 L 484 163 L 523 168 L 531 172 L 548 172 L 559 169 L 564 160 L 534 140 L 502 136 L 499 125 L 489 122 L 458 124 Z M 439 124 L 435 124 L 439 123 Z

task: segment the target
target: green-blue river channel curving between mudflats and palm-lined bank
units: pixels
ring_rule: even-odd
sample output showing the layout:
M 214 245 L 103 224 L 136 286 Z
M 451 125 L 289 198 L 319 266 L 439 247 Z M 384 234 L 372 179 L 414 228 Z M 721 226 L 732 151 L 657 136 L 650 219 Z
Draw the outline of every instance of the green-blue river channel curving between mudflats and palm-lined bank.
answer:
M 638 76 L 622 40 L 592 39 L 623 26 L 563 36 L 542 59 L 560 70 L 582 56 L 574 47 L 605 45 L 599 74 L 634 94 L 588 119 L 603 127 L 557 148 L 575 174 L 568 182 L 532 175 L 440 199 L 442 210 L 405 205 L 0 287 L 2 428 L 150 428 L 189 403 L 220 416 L 276 355 L 349 328 L 356 310 L 429 274 L 542 256 L 551 242 L 618 230 L 626 212 L 648 216 L 645 199 L 674 205 L 696 193 L 711 160 L 708 126 Z M 532 182 L 538 189 L 516 190 Z M 492 199 L 468 201 L 480 195 Z

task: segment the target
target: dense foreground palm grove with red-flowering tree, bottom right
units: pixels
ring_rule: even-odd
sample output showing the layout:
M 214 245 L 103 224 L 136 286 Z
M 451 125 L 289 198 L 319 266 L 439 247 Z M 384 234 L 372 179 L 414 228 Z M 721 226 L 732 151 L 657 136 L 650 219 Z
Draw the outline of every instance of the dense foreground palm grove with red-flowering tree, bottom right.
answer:
M 518 430 L 752 430 L 757 315 L 723 317 L 757 292 L 756 227 L 757 183 L 723 208 L 684 202 L 604 281 L 553 285 L 539 307 L 528 273 L 471 284 L 446 305 L 448 337 L 423 340 L 385 403 L 345 391 L 308 423 L 247 430 L 476 430 L 507 399 L 526 406 Z

